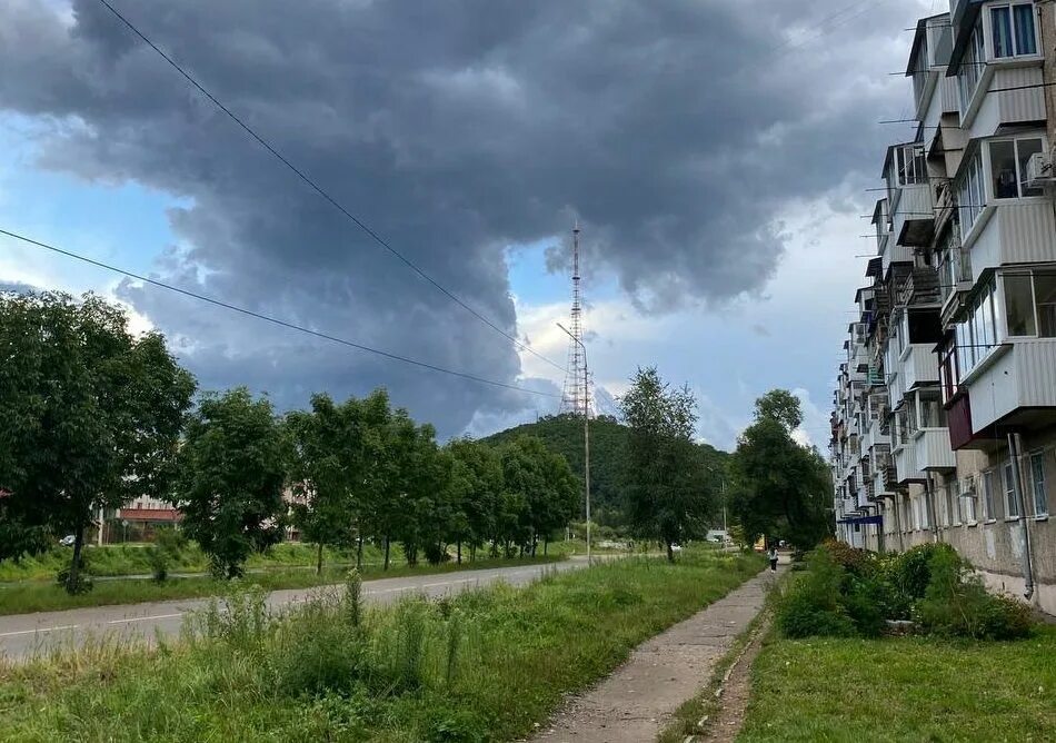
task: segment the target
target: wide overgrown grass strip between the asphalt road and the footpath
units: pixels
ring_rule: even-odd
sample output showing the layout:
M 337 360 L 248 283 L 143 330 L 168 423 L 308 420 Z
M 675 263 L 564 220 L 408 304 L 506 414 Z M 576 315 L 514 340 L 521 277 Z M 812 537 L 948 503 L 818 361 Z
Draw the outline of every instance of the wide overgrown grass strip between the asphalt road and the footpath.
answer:
M 101 643 L 0 666 L 0 741 L 514 740 L 760 567 L 687 552 L 272 622 L 242 596 L 158 651 Z

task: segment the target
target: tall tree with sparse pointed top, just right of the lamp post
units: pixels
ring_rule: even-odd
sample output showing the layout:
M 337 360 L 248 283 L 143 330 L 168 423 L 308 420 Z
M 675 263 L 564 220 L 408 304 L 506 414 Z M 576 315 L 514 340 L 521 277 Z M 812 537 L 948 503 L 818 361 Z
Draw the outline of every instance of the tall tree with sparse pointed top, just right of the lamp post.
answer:
M 661 541 L 674 562 L 674 545 L 703 536 L 710 512 L 709 478 L 693 443 L 696 400 L 649 367 L 631 378 L 620 408 L 630 427 L 624 487 L 631 527 Z

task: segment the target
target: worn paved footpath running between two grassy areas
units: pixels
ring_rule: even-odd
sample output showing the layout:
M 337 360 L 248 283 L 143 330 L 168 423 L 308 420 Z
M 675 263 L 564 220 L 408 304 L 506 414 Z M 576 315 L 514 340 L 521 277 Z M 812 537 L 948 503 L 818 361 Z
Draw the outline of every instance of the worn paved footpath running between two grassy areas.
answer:
M 784 562 L 784 561 L 783 561 Z M 639 645 L 627 663 L 571 697 L 534 741 L 655 741 L 670 714 L 708 683 L 716 662 L 763 608 L 769 568 L 693 617 Z

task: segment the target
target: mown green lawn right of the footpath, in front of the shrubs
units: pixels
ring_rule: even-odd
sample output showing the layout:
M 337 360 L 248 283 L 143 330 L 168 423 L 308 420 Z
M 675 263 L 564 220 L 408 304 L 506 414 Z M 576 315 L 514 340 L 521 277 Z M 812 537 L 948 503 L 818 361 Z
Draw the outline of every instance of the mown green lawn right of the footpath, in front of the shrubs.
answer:
M 737 740 L 1056 741 L 1056 627 L 1018 642 L 771 637 Z

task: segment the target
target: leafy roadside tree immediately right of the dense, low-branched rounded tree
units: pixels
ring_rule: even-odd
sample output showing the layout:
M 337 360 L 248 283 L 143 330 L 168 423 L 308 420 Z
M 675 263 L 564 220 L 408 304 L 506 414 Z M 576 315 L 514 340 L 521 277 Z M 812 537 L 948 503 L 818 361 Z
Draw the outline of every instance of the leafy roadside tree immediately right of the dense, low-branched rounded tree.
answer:
M 291 516 L 303 538 L 316 543 L 318 575 L 323 547 L 347 546 L 357 536 L 353 493 L 365 469 L 361 406 L 356 398 L 335 405 L 329 395 L 312 395 L 311 412 L 288 414 L 285 428 L 297 498 Z

